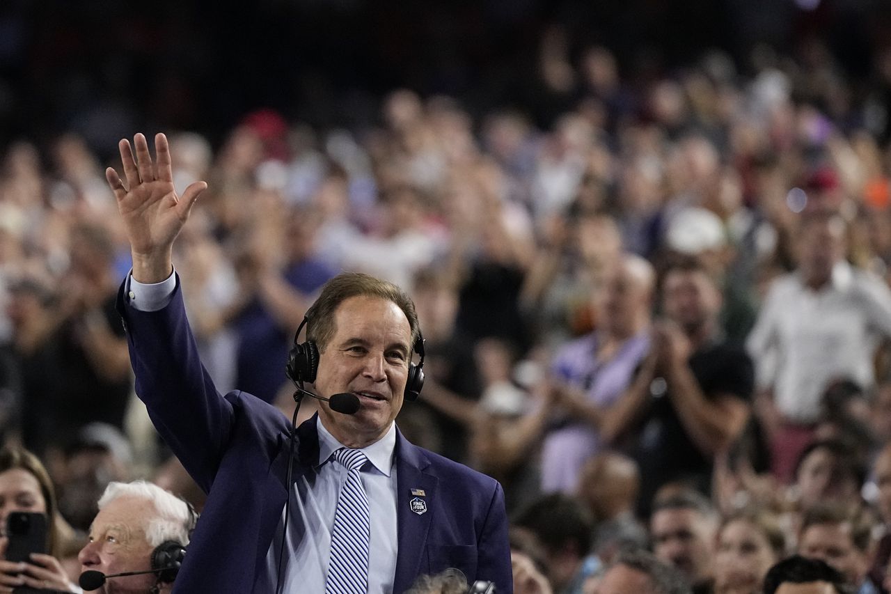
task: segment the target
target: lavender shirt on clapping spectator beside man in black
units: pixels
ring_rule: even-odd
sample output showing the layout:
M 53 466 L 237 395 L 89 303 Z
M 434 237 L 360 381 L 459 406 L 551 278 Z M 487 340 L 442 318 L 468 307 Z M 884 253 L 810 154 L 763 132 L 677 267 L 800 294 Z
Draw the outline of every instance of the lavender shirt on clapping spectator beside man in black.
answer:
M 594 332 L 562 347 L 554 358 L 552 373 L 563 382 L 584 390 L 588 401 L 609 406 L 625 392 L 634 371 L 650 350 L 650 333 L 626 340 L 612 359 L 598 361 L 601 333 Z M 544 437 L 542 491 L 576 491 L 585 460 L 600 450 L 601 443 L 591 425 L 568 421 Z

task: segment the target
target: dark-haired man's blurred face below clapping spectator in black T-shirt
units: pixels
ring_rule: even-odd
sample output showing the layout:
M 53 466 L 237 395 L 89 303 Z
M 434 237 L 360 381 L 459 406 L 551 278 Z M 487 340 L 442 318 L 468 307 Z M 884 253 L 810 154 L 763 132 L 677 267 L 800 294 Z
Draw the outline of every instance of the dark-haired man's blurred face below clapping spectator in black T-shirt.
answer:
M 691 585 L 712 575 L 715 521 L 695 509 L 660 509 L 650 521 L 656 557 L 674 565 Z

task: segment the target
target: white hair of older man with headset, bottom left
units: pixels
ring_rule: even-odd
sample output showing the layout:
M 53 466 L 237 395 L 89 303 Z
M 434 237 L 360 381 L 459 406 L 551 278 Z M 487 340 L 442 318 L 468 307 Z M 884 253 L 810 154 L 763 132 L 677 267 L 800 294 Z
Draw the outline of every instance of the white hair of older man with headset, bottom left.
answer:
M 176 540 L 183 546 L 189 544 L 195 515 L 183 499 L 145 481 L 109 483 L 99 498 L 99 509 L 121 497 L 145 499 L 155 507 L 156 514 L 145 528 L 145 540 L 152 547 L 157 547 L 166 540 Z

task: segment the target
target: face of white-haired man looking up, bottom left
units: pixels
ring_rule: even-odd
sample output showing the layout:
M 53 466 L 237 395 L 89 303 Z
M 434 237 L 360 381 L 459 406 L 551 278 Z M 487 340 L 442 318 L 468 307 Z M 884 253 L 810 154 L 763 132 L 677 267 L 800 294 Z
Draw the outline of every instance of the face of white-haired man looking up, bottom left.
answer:
M 145 530 L 154 506 L 145 499 L 122 496 L 112 499 L 90 526 L 89 542 L 80 549 L 80 571 L 105 574 L 151 569 L 151 551 Z M 157 578 L 153 574 L 114 578 L 102 586 L 102 594 L 144 594 Z

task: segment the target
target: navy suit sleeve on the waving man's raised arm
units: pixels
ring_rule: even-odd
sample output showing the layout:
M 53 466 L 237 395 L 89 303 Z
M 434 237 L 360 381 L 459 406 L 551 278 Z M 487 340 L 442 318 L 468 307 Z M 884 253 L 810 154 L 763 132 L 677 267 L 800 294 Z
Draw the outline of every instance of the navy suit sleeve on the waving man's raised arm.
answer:
M 156 311 L 133 308 L 125 287 L 118 294 L 118 311 L 127 332 L 136 395 L 169 448 L 208 491 L 231 433 L 232 404 L 201 365 L 178 276 L 167 306 Z

